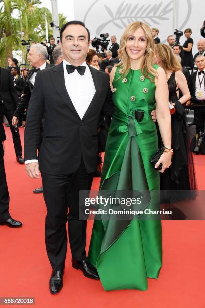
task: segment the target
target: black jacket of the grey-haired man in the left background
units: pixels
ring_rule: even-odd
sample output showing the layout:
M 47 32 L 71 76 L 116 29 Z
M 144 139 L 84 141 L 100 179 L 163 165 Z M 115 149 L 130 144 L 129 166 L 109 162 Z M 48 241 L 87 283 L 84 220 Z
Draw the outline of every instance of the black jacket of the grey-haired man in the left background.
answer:
M 46 68 L 48 68 L 48 67 L 49 67 L 49 64 L 46 63 Z M 21 113 L 25 110 L 25 108 L 28 107 L 29 100 L 31 98 L 31 94 L 32 94 L 33 89 L 34 89 L 34 85 L 29 81 L 31 76 L 33 75 L 33 73 L 34 73 L 34 68 L 28 71 L 26 81 L 25 81 L 24 90 L 23 90 L 24 95 L 23 95 L 21 101 L 19 101 L 17 108 L 14 112 L 14 115 L 17 118 L 19 118 Z

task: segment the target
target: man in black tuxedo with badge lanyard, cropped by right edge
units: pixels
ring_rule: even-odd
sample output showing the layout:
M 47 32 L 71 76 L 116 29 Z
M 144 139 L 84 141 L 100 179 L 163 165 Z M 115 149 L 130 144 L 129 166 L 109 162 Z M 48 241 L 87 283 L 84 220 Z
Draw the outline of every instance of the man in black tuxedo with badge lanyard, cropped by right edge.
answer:
M 205 56 L 198 55 L 195 64 L 198 70 L 191 75 L 191 97 L 196 106 L 194 118 L 198 134 L 204 132 L 205 123 Z

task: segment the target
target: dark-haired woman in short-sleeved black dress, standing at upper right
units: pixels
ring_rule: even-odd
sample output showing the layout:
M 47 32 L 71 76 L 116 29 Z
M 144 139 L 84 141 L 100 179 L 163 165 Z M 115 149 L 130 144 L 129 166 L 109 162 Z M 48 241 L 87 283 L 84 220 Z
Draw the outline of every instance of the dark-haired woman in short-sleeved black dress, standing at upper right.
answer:
M 186 41 L 183 44 L 184 66 L 190 67 L 190 69 L 192 69 L 193 67 L 193 54 L 192 54 L 193 39 L 191 38 L 191 34 L 192 31 L 190 28 L 185 29 L 184 35 L 186 37 Z

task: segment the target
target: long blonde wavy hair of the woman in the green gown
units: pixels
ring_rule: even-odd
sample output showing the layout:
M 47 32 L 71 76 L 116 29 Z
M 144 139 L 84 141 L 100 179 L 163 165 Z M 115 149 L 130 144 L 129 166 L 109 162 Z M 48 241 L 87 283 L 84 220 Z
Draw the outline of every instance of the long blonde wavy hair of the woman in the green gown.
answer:
M 121 62 L 118 64 L 118 66 L 122 67 L 122 78 L 124 78 L 129 70 L 130 70 L 130 58 L 126 51 L 126 43 L 129 38 L 137 29 L 141 28 L 145 32 L 145 37 L 147 39 L 147 47 L 144 54 L 144 63 L 141 68 L 141 73 L 144 77 L 148 78 L 151 81 L 154 81 L 154 79 L 149 75 L 156 76 L 157 71 L 153 68 L 153 62 L 154 62 L 154 39 L 152 35 L 151 28 L 143 23 L 143 22 L 133 22 L 129 24 L 120 39 L 120 47 L 119 47 L 119 58 Z

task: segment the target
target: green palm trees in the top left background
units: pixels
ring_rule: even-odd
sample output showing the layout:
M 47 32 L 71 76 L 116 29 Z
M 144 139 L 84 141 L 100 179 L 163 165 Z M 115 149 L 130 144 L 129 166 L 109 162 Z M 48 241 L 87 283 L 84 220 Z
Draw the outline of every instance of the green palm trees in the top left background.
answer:
M 48 35 L 52 36 L 52 14 L 40 4 L 39 0 L 0 0 L 0 66 L 7 67 L 7 57 L 13 50 L 21 50 L 24 61 L 26 47 L 21 45 L 21 39 L 45 40 L 45 18 Z M 66 17 L 59 14 L 59 26 L 66 22 Z

